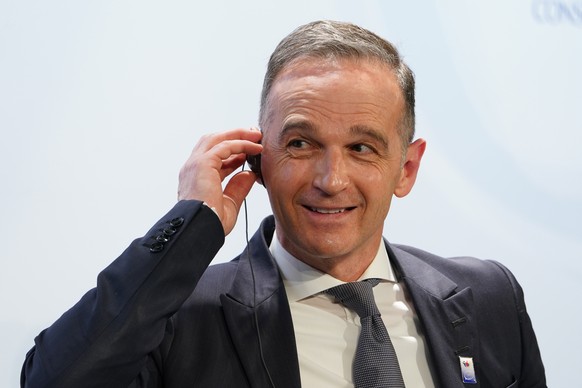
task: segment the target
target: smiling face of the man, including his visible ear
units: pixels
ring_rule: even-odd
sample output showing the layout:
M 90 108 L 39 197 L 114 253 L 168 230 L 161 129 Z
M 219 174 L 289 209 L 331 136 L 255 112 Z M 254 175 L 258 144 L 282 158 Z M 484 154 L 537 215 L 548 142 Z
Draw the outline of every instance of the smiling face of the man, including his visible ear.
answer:
M 295 257 L 324 272 L 373 259 L 392 195 L 410 191 L 424 150 L 413 143 L 402 167 L 403 107 L 395 76 L 376 62 L 305 59 L 277 76 L 262 173 L 277 235 Z

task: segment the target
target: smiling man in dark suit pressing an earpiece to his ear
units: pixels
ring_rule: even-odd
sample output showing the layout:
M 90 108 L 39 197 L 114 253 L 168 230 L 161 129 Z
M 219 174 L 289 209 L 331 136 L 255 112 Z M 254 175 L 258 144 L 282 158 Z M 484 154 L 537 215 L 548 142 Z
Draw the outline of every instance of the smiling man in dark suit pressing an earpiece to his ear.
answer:
M 329 289 L 366 279 L 406 386 L 546 386 L 505 267 L 382 237 L 426 146 L 390 43 L 346 23 L 298 28 L 269 61 L 260 126 L 199 141 L 178 204 L 36 338 L 23 387 L 360 386 L 364 318 Z M 256 173 L 222 188 L 259 153 Z M 274 215 L 239 257 L 209 266 L 256 180 Z

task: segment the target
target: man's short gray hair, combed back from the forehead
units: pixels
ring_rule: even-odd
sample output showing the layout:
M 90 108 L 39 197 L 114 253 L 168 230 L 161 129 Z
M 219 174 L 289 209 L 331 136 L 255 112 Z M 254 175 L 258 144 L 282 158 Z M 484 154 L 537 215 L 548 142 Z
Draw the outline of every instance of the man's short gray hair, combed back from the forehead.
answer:
M 386 64 L 396 75 L 404 97 L 404 115 L 398 128 L 402 149 L 414 138 L 414 74 L 390 42 L 362 27 L 337 21 L 315 21 L 298 27 L 275 48 L 261 92 L 259 124 L 266 124 L 266 105 L 277 76 L 297 59 L 365 59 Z

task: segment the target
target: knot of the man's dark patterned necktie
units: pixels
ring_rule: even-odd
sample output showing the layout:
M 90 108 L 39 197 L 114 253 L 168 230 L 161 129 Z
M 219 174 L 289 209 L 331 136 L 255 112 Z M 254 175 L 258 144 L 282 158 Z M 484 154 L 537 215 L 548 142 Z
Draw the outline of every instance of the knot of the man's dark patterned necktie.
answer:
M 360 282 L 341 284 L 325 292 L 333 295 L 338 302 L 350 310 L 355 311 L 362 319 L 380 314 L 372 290 L 378 283 L 380 283 L 380 279 L 366 279 Z

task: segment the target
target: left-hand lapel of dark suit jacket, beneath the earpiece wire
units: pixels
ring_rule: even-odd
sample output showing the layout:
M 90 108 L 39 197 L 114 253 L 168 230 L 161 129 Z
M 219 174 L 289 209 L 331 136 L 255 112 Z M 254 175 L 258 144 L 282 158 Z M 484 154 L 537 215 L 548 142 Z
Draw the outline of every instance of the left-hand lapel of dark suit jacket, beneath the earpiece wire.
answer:
M 267 243 L 273 230 L 272 218 L 266 219 L 240 256 L 232 288 L 221 301 L 250 385 L 296 388 L 301 383 L 293 322 Z

